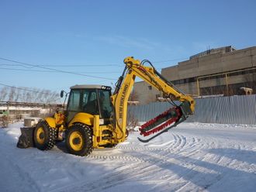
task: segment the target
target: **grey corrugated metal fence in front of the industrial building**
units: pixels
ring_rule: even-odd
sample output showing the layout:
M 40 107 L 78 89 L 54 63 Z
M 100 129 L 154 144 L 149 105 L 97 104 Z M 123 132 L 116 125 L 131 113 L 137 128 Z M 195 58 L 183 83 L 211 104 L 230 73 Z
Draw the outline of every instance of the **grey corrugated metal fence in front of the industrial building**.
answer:
M 195 99 L 195 103 L 195 115 L 186 122 L 256 125 L 256 94 L 200 98 Z M 168 102 L 129 106 L 129 114 L 140 122 L 146 122 L 170 107 Z

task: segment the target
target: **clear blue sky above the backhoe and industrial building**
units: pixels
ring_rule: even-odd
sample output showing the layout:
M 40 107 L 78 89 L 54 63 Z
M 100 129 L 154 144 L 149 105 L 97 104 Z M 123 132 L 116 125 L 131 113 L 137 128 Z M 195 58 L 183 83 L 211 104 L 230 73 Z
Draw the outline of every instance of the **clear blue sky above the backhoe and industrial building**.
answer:
M 256 46 L 255 9 L 254 0 L 0 0 L 0 58 L 26 63 L 0 60 L 0 84 L 112 85 L 128 56 L 161 70 L 207 48 Z

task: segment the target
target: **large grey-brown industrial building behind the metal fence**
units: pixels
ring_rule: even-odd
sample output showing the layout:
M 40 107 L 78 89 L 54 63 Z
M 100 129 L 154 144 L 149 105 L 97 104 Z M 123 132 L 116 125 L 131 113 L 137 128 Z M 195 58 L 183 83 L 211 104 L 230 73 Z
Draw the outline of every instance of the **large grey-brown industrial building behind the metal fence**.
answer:
M 161 74 L 194 97 L 206 95 L 254 94 L 256 91 L 256 46 L 236 50 L 232 46 L 206 50 L 166 67 Z M 157 101 L 161 92 L 144 81 L 136 82 L 133 91 L 140 105 Z

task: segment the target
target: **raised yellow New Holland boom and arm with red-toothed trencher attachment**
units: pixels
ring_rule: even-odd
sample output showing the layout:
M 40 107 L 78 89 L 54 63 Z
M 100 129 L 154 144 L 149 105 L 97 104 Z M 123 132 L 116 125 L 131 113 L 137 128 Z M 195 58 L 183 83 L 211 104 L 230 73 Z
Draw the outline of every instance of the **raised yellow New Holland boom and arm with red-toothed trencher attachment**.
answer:
M 140 135 L 148 136 L 154 133 L 150 139 L 154 139 L 157 135 L 161 135 L 163 132 L 168 131 L 172 127 L 184 122 L 189 115 L 192 115 L 195 111 L 195 101 L 188 94 L 183 94 L 182 91 L 178 90 L 170 81 L 166 80 L 155 70 L 152 63 L 149 60 L 135 60 L 133 57 L 126 57 L 124 60 L 126 64 L 123 74 L 119 77 L 119 81 L 116 84 L 116 90 L 112 95 L 112 105 L 115 109 L 115 125 L 117 128 L 117 135 L 125 135 L 126 130 L 126 111 L 127 101 L 132 90 L 136 77 L 140 77 L 147 84 L 155 87 L 161 91 L 164 95 L 168 96 L 169 99 L 180 101 L 180 105 L 176 105 L 172 101 L 174 108 L 169 108 L 164 111 L 161 115 L 146 122 L 140 128 Z M 144 66 L 144 63 L 149 63 L 150 67 Z M 141 142 L 148 142 L 150 139 L 140 139 Z

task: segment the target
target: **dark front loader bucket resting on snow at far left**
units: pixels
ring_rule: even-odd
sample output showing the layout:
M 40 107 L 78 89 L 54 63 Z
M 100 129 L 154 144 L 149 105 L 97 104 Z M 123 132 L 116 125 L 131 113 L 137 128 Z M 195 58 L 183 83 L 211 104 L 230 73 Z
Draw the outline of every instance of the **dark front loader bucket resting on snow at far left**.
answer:
M 17 142 L 17 147 L 21 149 L 26 149 L 28 147 L 35 146 L 33 135 L 35 127 L 22 127 L 20 128 L 21 135 L 19 136 L 19 141 Z

